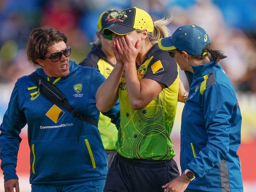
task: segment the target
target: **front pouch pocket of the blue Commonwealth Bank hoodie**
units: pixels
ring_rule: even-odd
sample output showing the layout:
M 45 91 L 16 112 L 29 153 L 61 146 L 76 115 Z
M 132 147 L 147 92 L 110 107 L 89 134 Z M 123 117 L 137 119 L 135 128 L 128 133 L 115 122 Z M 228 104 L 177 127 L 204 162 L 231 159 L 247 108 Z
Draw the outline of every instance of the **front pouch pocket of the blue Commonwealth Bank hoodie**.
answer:
M 88 136 L 81 136 L 79 142 L 77 137 L 32 141 L 30 180 L 57 182 L 107 175 L 103 150 Z

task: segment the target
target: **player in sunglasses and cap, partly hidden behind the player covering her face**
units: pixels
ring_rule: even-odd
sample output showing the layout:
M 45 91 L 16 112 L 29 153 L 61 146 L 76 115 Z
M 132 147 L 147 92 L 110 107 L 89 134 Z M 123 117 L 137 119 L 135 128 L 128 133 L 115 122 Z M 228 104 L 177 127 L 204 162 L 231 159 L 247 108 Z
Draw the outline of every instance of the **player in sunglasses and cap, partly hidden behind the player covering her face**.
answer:
M 112 34 L 103 35 L 102 31 L 106 27 L 114 24 L 118 17 L 118 11 L 110 9 L 101 13 L 98 20 L 98 31 L 96 32 L 97 40 L 93 43 L 92 50 L 86 58 L 80 63 L 82 66 L 90 66 L 98 68 L 100 73 L 108 78 L 111 71 L 116 65 L 116 58 L 112 47 Z M 116 103 L 119 105 L 119 102 Z M 111 123 L 111 119 L 100 113 L 98 129 L 108 158 L 108 168 L 116 156 L 116 141 L 118 130 Z

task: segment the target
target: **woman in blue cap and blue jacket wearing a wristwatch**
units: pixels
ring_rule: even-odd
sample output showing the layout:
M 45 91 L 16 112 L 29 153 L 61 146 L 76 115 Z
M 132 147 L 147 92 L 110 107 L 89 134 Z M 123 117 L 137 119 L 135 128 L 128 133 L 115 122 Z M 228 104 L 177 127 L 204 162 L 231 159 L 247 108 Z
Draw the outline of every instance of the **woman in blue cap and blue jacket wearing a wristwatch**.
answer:
M 211 49 L 206 31 L 196 25 L 179 27 L 158 44 L 185 71 L 190 86 L 181 119 L 182 174 L 164 185 L 164 191 L 243 191 L 237 155 L 241 112 L 232 83 L 219 65 L 226 56 Z

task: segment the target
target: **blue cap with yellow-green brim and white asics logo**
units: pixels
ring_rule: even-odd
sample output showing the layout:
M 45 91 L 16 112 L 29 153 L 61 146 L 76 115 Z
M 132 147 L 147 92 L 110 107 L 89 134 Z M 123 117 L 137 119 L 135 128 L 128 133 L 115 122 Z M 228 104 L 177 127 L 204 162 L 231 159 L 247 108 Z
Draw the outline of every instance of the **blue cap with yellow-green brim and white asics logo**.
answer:
M 197 25 L 184 25 L 179 27 L 171 37 L 161 38 L 158 46 L 162 50 L 178 49 L 190 55 L 206 55 L 204 47 L 210 43 L 206 31 Z

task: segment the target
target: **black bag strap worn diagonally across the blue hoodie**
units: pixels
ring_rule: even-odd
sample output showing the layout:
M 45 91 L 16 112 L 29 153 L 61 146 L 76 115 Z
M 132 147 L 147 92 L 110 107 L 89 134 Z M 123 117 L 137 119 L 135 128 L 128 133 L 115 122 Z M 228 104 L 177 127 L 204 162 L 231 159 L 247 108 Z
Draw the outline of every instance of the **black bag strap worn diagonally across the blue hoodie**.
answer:
M 30 76 L 30 78 L 32 78 L 32 80 L 36 83 L 38 93 L 40 92 L 47 100 L 69 111 L 74 117 L 77 117 L 80 120 L 86 121 L 87 123 L 90 123 L 95 127 L 98 127 L 96 121 L 89 117 L 83 116 L 82 114 L 80 114 L 78 110 L 73 108 L 69 101 L 67 101 L 67 98 L 62 93 L 62 91 L 60 91 L 60 89 L 54 86 L 54 84 L 50 83 L 45 78 L 38 75 L 36 71 L 28 76 Z

